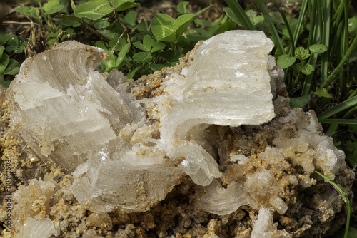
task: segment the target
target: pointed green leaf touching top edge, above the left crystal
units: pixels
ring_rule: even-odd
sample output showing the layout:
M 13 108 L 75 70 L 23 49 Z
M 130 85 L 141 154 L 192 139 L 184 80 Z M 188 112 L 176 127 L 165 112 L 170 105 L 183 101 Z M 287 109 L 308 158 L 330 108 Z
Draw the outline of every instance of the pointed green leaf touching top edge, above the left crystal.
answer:
M 106 0 L 91 0 L 84 4 L 79 4 L 74 10 L 78 17 L 86 17 L 92 20 L 101 19 L 103 16 L 110 14 L 113 9 Z

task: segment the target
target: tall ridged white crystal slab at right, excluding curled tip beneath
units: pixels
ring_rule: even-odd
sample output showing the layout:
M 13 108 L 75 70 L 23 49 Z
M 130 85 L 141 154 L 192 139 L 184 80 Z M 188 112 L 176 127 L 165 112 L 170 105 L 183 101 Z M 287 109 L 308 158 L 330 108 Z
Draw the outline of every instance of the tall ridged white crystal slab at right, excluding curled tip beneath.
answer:
M 188 68 L 183 100 L 164 120 L 167 143 L 188 137 L 193 125 L 260 125 L 274 117 L 268 53 L 262 31 L 227 31 L 204 41 Z M 224 62 L 224 63 L 223 63 Z

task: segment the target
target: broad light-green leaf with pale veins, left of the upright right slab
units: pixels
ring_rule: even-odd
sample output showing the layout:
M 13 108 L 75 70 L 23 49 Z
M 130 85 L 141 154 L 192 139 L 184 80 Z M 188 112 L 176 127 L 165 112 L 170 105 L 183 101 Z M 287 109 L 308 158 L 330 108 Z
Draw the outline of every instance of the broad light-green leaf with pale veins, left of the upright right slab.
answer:
M 151 21 L 151 31 L 159 41 L 173 43 L 176 40 L 174 23 L 175 20 L 171 16 L 156 14 Z

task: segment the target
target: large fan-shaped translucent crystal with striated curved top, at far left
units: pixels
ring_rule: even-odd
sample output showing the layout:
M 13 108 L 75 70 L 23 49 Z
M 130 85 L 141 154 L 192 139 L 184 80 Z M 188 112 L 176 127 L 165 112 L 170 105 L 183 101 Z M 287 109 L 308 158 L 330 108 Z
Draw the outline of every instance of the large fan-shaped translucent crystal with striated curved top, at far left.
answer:
M 42 160 L 74 171 L 134 119 L 94 71 L 106 57 L 99 48 L 66 41 L 21 66 L 7 94 L 11 127 Z

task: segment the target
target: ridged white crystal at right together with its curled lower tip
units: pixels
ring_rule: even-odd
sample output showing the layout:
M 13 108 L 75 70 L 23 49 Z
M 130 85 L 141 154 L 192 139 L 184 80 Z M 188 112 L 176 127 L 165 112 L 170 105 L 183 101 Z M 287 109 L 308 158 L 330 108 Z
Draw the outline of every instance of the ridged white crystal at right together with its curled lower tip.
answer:
M 261 31 L 213 36 L 197 49 L 191 67 L 171 75 L 163 95 L 155 98 L 171 107 L 160 113 L 161 143 L 169 148 L 169 157 L 185 158 L 181 168 L 196 184 L 206 186 L 221 177 L 204 149 L 204 129 L 211 124 L 259 125 L 274 117 L 267 70 L 272 48 Z

